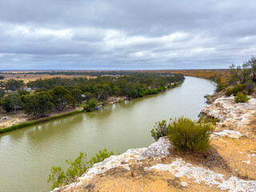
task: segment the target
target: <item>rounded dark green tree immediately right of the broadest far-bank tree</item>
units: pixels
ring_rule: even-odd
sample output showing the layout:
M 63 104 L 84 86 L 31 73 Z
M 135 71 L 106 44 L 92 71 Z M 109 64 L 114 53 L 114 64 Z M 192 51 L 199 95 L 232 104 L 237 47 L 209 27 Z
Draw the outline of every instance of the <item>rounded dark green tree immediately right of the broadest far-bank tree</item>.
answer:
M 74 97 L 69 90 L 66 90 L 63 86 L 55 86 L 53 90 L 50 90 L 50 94 L 53 97 L 53 102 L 56 108 L 61 111 L 66 106 L 74 106 Z

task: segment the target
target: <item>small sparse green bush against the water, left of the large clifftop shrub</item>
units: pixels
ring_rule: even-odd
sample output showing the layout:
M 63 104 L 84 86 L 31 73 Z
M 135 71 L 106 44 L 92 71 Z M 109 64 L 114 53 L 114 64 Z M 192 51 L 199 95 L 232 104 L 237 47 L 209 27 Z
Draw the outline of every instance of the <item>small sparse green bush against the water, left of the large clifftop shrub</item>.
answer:
M 154 140 L 158 141 L 158 138 L 167 135 L 169 126 L 170 124 L 167 125 L 166 120 L 162 120 L 162 122 L 158 123 L 156 122 L 154 128 L 151 130 L 151 136 Z

